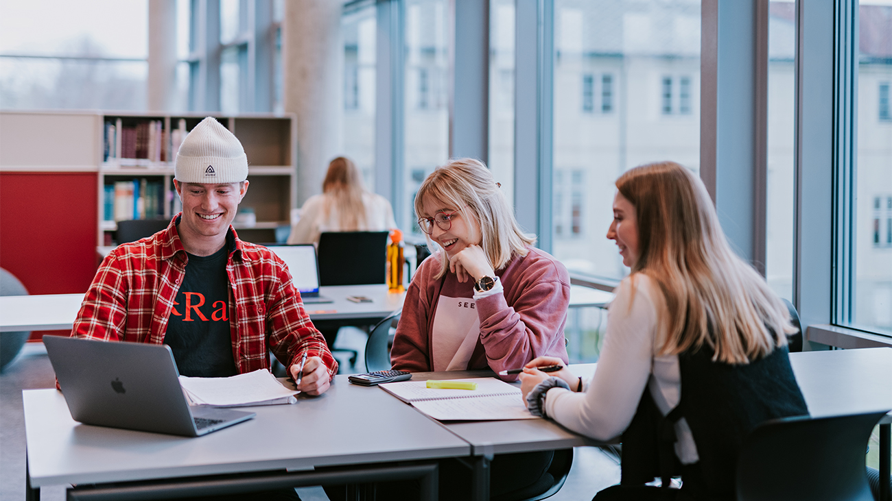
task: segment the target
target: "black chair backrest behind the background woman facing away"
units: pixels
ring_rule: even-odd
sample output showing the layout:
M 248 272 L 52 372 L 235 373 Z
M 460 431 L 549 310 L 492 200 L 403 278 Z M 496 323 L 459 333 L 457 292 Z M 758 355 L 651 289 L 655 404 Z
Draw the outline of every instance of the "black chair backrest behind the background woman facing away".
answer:
M 320 285 L 386 283 L 388 232 L 326 232 L 319 236 Z

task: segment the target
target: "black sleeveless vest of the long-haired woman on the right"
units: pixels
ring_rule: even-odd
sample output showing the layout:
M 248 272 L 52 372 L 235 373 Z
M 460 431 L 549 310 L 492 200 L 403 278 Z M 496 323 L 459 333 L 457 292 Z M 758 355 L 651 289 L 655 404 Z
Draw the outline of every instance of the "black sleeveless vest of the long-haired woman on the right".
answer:
M 649 390 L 623 433 L 622 484 L 640 485 L 681 474 L 693 499 L 733 499 L 740 445 L 764 421 L 807 415 L 805 398 L 789 365 L 786 347 L 747 365 L 712 361 L 707 347 L 679 355 L 681 399 L 663 416 Z M 690 426 L 699 461 L 682 466 L 675 456 L 674 425 Z

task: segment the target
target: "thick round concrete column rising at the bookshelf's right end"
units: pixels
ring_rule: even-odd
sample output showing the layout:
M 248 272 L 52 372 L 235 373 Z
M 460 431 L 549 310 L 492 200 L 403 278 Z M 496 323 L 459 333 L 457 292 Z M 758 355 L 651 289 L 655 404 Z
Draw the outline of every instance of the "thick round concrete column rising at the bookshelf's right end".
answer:
M 285 2 L 285 111 L 297 115 L 297 202 L 322 191 L 328 161 L 343 152 L 341 2 Z

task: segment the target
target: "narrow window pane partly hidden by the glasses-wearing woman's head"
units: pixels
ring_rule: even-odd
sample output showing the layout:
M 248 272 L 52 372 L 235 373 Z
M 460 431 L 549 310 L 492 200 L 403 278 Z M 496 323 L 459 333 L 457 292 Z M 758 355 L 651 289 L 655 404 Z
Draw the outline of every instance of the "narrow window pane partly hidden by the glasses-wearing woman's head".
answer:
M 417 234 L 415 193 L 449 158 L 448 8 L 446 0 L 405 2 L 403 209 L 396 222 Z

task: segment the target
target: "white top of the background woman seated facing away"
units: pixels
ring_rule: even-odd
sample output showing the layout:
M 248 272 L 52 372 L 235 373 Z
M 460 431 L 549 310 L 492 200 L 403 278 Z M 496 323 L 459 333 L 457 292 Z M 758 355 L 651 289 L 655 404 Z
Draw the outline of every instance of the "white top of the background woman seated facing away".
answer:
M 291 227 L 288 243 L 318 243 L 323 232 L 345 231 L 341 227 L 338 207 L 333 205 L 326 217 L 326 193 L 313 195 L 303 203 L 301 218 Z M 376 193 L 363 193 L 362 203 L 366 206 L 366 221 L 359 221 L 360 232 L 379 232 L 396 228 L 391 204 Z

